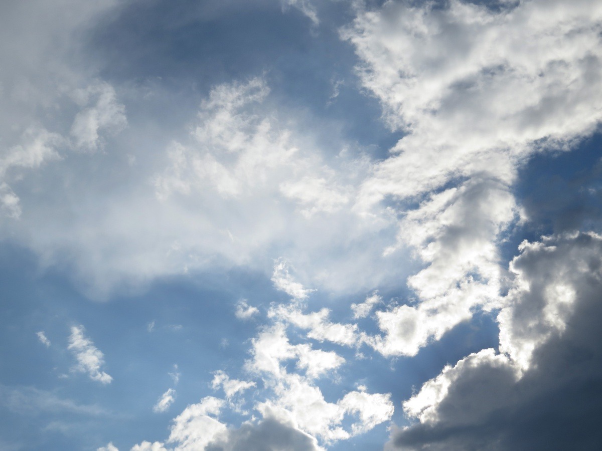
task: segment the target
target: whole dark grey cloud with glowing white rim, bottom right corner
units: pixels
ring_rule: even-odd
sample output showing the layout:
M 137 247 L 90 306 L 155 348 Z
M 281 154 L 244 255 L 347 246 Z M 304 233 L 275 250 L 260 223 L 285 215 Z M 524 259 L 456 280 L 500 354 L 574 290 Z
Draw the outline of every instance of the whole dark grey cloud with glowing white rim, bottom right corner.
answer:
M 505 450 L 602 443 L 590 425 L 600 417 L 600 251 L 602 237 L 594 233 L 521 245 L 498 315 L 501 353 L 471 354 L 426 382 L 403 403 L 419 422 L 397 429 L 390 446 Z

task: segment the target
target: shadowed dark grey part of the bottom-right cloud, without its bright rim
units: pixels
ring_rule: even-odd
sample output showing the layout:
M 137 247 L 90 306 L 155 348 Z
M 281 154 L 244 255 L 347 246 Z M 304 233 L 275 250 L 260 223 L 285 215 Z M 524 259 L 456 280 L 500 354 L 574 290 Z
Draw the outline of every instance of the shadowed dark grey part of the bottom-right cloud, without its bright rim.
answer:
M 565 329 L 553 331 L 536 349 L 518 382 L 510 365 L 465 365 L 437 406 L 436 421 L 397 429 L 392 449 L 602 448 L 602 239 L 582 233 L 553 244 L 515 260 L 530 290 L 517 301 L 512 325 L 522 330 L 513 333 L 529 337 L 529 325 L 519 320 L 541 316 L 542 292 L 557 283 L 576 292 Z

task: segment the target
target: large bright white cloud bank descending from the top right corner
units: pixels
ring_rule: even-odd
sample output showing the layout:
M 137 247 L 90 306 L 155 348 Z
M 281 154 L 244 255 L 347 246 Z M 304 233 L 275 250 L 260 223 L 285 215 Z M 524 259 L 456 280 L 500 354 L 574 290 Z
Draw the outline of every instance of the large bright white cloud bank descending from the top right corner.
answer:
M 385 254 L 409 247 L 426 265 L 408 279 L 417 305 L 377 312 L 384 336 L 370 340 L 375 349 L 415 355 L 475 307 L 499 306 L 497 244 L 522 216 L 512 194 L 518 167 L 534 152 L 570 149 L 602 117 L 601 22 L 589 1 L 500 11 L 385 2 L 360 9 L 343 31 L 362 84 L 406 132 L 355 209 L 368 214 L 394 198 L 402 220 Z

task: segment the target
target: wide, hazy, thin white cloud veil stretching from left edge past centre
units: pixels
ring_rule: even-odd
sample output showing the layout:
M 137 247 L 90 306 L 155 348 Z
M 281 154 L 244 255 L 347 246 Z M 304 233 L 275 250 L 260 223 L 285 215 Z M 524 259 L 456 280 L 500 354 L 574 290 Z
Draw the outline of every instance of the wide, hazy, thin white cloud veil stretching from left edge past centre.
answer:
M 131 89 L 104 81 L 69 86 L 60 105 L 73 113 L 40 129 L 60 130 L 61 146 L 46 147 L 62 159 L 31 174 L 35 184 L 16 189 L 8 180 L 0 190 L 7 214 L 19 212 L 17 197 L 29 205 L 19 227 L 2 232 L 33 250 L 45 267 L 70 268 L 79 289 L 100 299 L 207 268 L 246 266 L 267 274 L 276 256 L 294 262 L 303 281 L 335 291 L 399 280 L 394 273 L 405 271 L 403 256 L 382 259 L 396 218 L 353 211 L 370 159 L 341 137 L 332 137 L 329 147 L 319 143 L 319 130 L 279 106 L 265 76 L 214 85 L 196 115 L 180 127 L 166 126 L 162 140 L 143 147 L 131 146 L 150 139 L 139 126 L 143 112 L 130 108 L 121 118 L 121 97 L 139 94 Z M 106 120 L 98 109 L 107 109 Z M 64 132 L 75 117 L 82 124 L 73 129 L 77 137 Z M 114 135 L 125 121 L 133 125 Z M 87 155 L 65 152 L 77 150 L 77 143 Z M 116 171 L 111 183 L 106 171 Z M 102 214 L 92 208 L 99 204 Z M 273 255 L 275 249 L 281 251 Z

